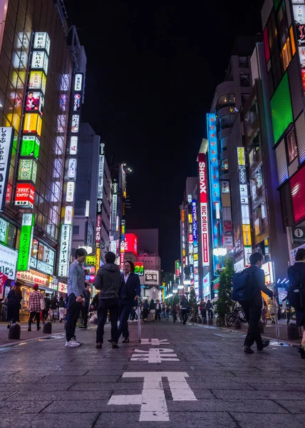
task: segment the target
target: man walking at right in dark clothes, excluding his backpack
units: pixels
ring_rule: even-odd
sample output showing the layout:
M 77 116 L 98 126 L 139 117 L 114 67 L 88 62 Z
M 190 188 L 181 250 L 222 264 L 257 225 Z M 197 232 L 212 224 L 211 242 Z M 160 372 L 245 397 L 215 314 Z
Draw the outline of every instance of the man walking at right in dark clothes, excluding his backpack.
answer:
M 269 297 L 273 297 L 272 290 L 265 285 L 264 270 L 261 269 L 263 264 L 263 256 L 259 253 L 250 255 L 251 266 L 248 267 L 248 272 L 252 275 L 252 285 L 255 288 L 254 295 L 251 300 L 243 300 L 239 302 L 242 305 L 242 309 L 246 314 L 247 321 L 249 324 L 247 336 L 244 340 L 244 352 L 246 354 L 253 354 L 252 345 L 254 342 L 257 344 L 257 350 L 262 351 L 264 347 L 269 345 L 269 340 L 262 340 L 261 333 L 259 331 L 259 320 L 261 318 L 262 311 L 262 292 L 266 293 Z

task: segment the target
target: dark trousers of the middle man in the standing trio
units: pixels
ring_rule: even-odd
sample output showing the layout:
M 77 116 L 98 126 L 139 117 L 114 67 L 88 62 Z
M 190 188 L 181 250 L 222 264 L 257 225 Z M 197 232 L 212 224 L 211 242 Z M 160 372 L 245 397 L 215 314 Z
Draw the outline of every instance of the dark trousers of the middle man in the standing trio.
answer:
M 100 300 L 98 305 L 98 330 L 96 330 L 96 343 L 103 343 L 104 325 L 107 320 L 108 310 L 111 321 L 111 339 L 118 343 L 118 316 L 120 314 L 120 302 L 118 298 Z

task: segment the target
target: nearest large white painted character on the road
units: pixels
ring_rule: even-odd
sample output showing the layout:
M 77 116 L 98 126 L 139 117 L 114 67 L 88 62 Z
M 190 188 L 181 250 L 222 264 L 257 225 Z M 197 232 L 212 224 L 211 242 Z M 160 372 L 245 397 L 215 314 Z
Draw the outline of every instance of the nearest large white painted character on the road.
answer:
M 140 404 L 140 422 L 168 422 L 170 415 L 162 385 L 162 377 L 167 377 L 174 401 L 197 401 L 187 384 L 186 372 L 125 372 L 123 377 L 144 377 L 142 394 L 113 395 L 108 404 Z

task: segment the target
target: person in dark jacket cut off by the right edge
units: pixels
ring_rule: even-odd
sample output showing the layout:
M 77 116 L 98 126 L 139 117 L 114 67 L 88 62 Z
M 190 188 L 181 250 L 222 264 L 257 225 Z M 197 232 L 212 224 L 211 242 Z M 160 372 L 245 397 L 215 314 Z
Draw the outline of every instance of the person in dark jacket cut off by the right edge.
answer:
M 303 337 L 299 352 L 305 359 L 305 249 L 300 248 L 296 252 L 294 265 L 288 268 L 290 287 L 288 292 L 289 304 L 296 311 L 296 326 L 303 327 Z

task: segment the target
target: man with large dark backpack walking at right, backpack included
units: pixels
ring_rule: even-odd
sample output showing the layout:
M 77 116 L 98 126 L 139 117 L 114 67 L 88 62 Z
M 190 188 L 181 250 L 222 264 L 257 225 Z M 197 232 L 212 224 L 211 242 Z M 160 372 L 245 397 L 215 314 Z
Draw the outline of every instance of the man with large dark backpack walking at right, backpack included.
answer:
M 261 269 L 263 256 L 259 253 L 250 255 L 251 266 L 242 272 L 234 274 L 232 300 L 238 301 L 247 317 L 248 333 L 244 340 L 244 352 L 253 354 L 252 345 L 257 344 L 257 350 L 262 351 L 269 345 L 269 340 L 262 340 L 259 331 L 259 320 L 262 311 L 262 292 L 273 297 L 272 290 L 265 285 L 264 270 Z

